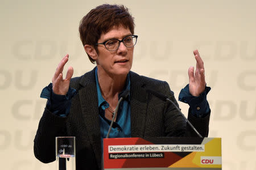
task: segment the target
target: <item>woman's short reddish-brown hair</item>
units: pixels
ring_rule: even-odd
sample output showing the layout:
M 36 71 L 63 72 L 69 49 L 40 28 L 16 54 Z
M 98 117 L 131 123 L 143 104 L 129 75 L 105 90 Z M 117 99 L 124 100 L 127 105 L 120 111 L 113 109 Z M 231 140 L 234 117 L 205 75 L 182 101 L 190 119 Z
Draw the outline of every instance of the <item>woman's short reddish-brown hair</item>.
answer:
M 122 25 L 134 33 L 134 18 L 123 5 L 104 4 L 90 10 L 80 21 L 79 32 L 82 45 L 93 45 L 98 53 L 97 42 L 102 33 L 107 33 L 114 26 Z M 88 54 L 87 54 L 88 55 Z M 88 55 L 90 62 L 95 60 Z

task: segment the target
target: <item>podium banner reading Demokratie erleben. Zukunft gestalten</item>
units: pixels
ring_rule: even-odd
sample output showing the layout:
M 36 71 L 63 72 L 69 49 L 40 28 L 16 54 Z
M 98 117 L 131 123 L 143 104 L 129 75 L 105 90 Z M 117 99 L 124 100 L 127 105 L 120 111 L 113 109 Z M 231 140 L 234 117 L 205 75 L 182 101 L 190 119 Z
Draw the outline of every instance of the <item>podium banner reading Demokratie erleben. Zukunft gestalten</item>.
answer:
M 104 139 L 104 169 L 221 169 L 221 138 Z M 170 170 L 171 170 L 170 169 Z

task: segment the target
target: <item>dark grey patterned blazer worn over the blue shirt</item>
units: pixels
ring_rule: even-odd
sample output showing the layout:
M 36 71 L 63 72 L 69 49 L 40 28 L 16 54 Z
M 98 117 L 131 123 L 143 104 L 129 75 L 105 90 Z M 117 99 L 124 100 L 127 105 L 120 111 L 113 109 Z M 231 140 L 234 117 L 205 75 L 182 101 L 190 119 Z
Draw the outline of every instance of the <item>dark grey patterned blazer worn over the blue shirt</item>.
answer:
M 71 79 L 77 90 L 68 117 L 58 117 L 45 108 L 34 139 L 34 154 L 43 163 L 55 161 L 55 137 L 76 137 L 76 169 L 101 169 L 101 134 L 95 68 Z M 146 92 L 166 95 L 177 104 L 167 82 L 130 71 L 131 137 L 197 136 L 170 103 Z M 188 119 L 203 137 L 208 136 L 209 117 Z

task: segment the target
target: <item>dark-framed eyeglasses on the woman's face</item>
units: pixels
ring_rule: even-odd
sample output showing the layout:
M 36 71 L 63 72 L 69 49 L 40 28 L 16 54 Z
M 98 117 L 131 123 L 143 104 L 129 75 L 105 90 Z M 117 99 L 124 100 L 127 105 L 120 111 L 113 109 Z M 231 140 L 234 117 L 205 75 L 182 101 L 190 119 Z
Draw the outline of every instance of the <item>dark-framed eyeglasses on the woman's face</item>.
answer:
M 115 51 L 119 48 L 121 42 L 123 42 L 123 44 L 128 48 L 133 47 L 137 42 L 137 38 L 138 38 L 137 35 L 130 35 L 130 36 L 124 37 L 122 40 L 111 39 L 111 40 L 106 40 L 101 43 L 97 43 L 95 45 L 103 44 L 103 45 L 105 45 L 107 50 Z

